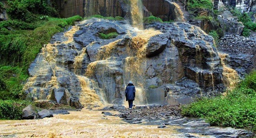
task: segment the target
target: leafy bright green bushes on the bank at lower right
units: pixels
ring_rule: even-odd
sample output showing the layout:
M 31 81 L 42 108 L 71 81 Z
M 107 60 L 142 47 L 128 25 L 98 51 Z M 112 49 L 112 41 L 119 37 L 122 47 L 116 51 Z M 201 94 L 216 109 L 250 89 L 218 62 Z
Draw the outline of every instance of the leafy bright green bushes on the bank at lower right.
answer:
M 256 131 L 256 71 L 246 76 L 227 96 L 203 98 L 182 108 L 189 117 L 206 118 L 211 125 Z

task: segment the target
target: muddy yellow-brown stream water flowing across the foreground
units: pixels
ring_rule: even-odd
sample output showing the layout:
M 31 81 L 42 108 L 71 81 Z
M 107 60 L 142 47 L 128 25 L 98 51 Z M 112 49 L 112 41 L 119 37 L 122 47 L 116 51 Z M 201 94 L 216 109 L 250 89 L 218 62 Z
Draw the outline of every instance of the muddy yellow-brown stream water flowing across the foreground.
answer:
M 119 117 L 103 116 L 102 111 L 83 109 L 68 115 L 40 120 L 0 120 L 1 138 L 184 138 L 181 127 L 129 124 Z M 116 111 L 110 111 L 118 114 Z M 197 134 L 190 134 L 202 137 Z M 208 137 L 208 136 L 203 136 Z

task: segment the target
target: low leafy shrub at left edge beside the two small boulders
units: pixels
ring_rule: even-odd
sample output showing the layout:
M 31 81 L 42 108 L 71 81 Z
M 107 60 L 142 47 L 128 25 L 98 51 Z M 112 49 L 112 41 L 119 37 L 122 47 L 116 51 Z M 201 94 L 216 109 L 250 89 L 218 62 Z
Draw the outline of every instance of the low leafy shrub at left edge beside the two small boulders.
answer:
M 0 119 L 21 119 L 25 101 L 0 100 Z

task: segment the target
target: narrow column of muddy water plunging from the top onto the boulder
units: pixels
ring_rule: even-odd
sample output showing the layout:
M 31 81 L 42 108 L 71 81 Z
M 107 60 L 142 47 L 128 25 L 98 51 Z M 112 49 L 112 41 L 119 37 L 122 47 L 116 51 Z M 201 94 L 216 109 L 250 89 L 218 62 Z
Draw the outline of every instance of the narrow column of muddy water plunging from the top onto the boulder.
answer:
M 130 0 L 131 2 L 131 20 L 133 27 L 144 29 L 143 27 L 143 10 L 141 0 Z

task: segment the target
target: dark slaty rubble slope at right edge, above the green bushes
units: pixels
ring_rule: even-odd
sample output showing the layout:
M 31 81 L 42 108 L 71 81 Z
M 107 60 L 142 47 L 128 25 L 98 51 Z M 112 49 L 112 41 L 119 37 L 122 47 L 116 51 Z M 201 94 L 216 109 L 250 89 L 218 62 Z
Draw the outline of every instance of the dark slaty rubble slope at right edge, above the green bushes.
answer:
M 219 51 L 228 54 L 226 64 L 235 69 L 241 77 L 256 68 L 256 38 L 226 35 L 221 38 Z

